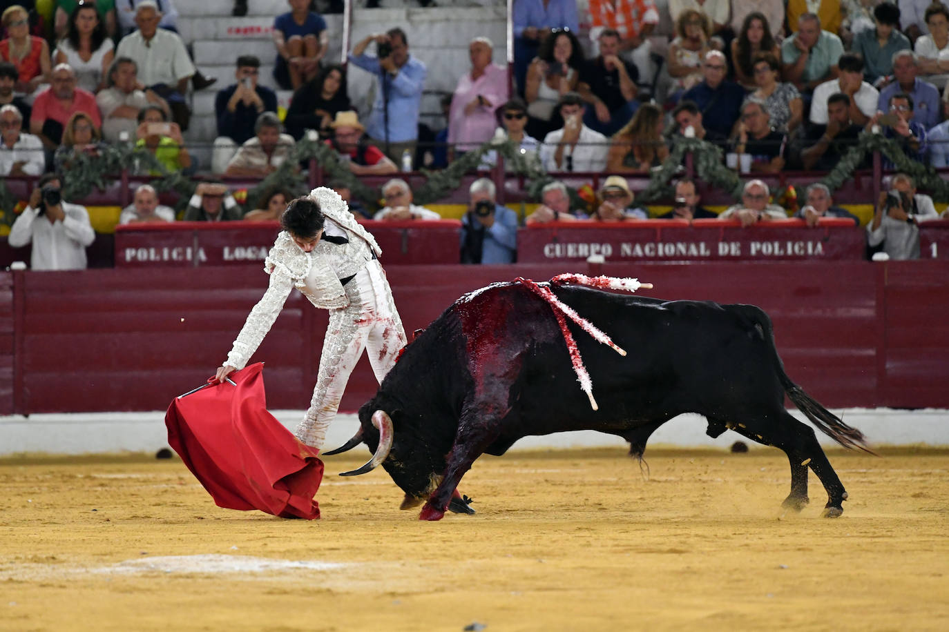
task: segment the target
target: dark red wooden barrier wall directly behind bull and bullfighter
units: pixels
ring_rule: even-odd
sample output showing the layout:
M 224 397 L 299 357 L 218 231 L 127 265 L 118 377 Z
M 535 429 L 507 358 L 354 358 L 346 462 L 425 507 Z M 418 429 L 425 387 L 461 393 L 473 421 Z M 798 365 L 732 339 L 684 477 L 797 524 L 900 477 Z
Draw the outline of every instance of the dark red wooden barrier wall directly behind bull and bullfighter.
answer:
M 949 407 L 947 262 L 406 265 L 387 273 L 411 338 L 466 291 L 576 271 L 639 277 L 656 284 L 647 296 L 761 306 L 791 378 L 827 406 Z M 2 274 L 0 412 L 163 409 L 221 364 L 267 279 L 255 265 Z M 622 326 L 597 324 L 607 333 Z M 288 298 L 254 356 L 267 362 L 270 407 L 307 406 L 325 327 L 325 311 L 299 294 Z M 363 358 L 343 409 L 375 388 Z

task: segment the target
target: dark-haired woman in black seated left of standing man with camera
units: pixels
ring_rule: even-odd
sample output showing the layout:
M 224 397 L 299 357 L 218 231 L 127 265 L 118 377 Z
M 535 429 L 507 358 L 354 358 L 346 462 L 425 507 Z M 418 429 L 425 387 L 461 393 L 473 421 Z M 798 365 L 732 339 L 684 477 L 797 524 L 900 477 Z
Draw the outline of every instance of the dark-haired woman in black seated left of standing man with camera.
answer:
M 287 134 L 296 140 L 303 138 L 307 130 L 316 130 L 323 137 L 332 135 L 329 124 L 340 112 L 352 110 L 346 94 L 345 68 L 333 63 L 324 67 L 313 81 L 301 85 L 287 110 L 284 124 Z

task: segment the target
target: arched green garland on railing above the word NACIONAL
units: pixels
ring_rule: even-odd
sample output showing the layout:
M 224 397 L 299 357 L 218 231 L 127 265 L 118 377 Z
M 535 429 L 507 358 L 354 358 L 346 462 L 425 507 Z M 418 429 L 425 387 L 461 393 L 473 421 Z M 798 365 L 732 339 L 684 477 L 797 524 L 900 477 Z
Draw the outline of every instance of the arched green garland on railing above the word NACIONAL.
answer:
M 719 147 L 701 138 L 677 136 L 673 139 L 669 156 L 662 161 L 659 169 L 649 174 L 649 184 L 637 194 L 636 200 L 652 202 L 671 196 L 673 190 L 669 182 L 682 171 L 686 153 L 692 153 L 698 180 L 728 191 L 735 199 L 741 197 L 741 179 L 737 173 L 725 167 Z

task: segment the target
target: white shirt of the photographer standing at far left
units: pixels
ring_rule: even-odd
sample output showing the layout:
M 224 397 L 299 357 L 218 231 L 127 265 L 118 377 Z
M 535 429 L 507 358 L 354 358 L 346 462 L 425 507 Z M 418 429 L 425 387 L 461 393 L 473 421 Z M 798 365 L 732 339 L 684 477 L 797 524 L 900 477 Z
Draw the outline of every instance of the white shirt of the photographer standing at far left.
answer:
M 34 270 L 84 270 L 85 248 L 96 240 L 89 213 L 78 204 L 63 203 L 65 220 L 50 223 L 27 207 L 9 229 L 8 243 L 19 248 L 32 242 L 29 266 Z

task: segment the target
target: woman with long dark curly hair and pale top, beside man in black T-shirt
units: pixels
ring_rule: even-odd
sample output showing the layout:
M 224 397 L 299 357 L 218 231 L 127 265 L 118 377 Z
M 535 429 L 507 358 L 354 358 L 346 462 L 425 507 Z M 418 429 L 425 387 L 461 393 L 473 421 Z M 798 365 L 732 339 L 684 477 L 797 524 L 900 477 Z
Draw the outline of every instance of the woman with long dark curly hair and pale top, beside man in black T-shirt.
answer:
M 544 39 L 528 68 L 524 99 L 528 102 L 528 134 L 535 138 L 557 129 L 557 108 L 580 82 L 584 54 L 572 31 L 554 30 Z

